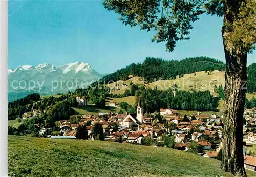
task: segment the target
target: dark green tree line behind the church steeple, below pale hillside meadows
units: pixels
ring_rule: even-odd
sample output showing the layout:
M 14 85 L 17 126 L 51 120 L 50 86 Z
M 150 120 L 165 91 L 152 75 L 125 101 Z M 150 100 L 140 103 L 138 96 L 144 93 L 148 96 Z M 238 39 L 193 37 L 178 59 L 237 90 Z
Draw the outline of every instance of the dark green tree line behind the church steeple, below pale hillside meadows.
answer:
M 141 98 L 145 112 L 159 112 L 160 108 L 172 108 L 178 110 L 216 110 L 219 98 L 213 97 L 210 91 L 176 91 L 173 90 L 145 89 L 140 87 L 136 91 L 136 104 L 138 96 Z

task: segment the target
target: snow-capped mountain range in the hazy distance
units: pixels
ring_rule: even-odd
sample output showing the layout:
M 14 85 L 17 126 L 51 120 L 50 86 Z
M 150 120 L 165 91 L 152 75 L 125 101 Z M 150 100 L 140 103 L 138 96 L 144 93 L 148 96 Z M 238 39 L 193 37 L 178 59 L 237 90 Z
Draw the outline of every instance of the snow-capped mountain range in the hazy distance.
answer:
M 50 63 L 22 65 L 8 69 L 8 100 L 22 98 L 28 92 L 39 92 L 40 95 L 67 92 L 102 77 L 90 64 L 79 61 L 58 67 Z

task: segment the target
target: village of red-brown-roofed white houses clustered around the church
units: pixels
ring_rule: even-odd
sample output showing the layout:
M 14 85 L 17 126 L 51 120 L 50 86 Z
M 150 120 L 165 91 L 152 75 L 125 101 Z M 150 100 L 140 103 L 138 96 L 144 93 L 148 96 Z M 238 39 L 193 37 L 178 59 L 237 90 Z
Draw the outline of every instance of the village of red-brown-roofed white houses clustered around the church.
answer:
M 80 106 L 87 105 L 83 98 L 76 98 Z M 118 106 L 116 102 L 110 102 L 109 106 Z M 60 120 L 56 122 L 57 130 L 52 132 L 42 127 L 40 137 L 51 139 L 75 139 L 79 126 L 86 126 L 88 139 L 95 140 L 92 128 L 95 122 L 102 125 L 104 141 L 116 143 L 132 143 L 138 145 L 152 145 L 155 147 L 166 146 L 166 137 L 172 136 L 174 145 L 172 148 L 182 151 L 193 151 L 207 158 L 221 158 L 222 137 L 224 128 L 223 116 L 203 115 L 195 112 L 193 115 L 182 115 L 178 110 L 161 108 L 158 113 L 163 118 L 161 121 L 154 114 L 143 112 L 139 98 L 136 114 L 98 113 L 94 115 L 81 115 L 79 122 Z M 32 110 L 23 114 L 23 119 L 40 115 L 39 110 Z M 76 115 L 71 119 L 77 118 Z M 248 152 L 246 144 L 256 145 L 256 107 L 244 110 L 244 163 L 245 168 L 256 171 L 256 154 Z

